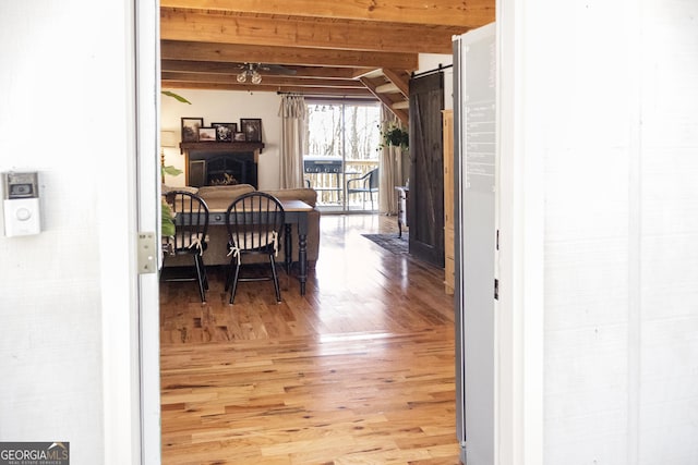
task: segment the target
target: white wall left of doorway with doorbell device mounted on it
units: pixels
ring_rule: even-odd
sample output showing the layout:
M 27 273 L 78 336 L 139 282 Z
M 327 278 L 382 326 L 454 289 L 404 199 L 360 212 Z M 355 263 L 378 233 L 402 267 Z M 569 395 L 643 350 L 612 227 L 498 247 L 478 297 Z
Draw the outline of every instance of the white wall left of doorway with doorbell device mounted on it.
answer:
M 69 441 L 72 464 L 132 462 L 132 412 L 115 421 L 123 438 L 106 420 L 101 327 L 133 307 L 129 8 L 0 2 L 0 171 L 38 171 L 44 213 L 38 235 L 0 234 L 0 441 Z M 107 431 L 120 458 L 105 456 Z

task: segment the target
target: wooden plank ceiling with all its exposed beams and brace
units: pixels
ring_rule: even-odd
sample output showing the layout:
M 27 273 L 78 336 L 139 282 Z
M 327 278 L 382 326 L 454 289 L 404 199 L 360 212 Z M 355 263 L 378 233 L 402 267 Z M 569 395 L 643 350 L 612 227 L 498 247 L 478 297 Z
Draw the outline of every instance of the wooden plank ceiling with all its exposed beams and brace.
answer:
M 494 0 L 160 0 L 161 84 L 378 98 L 406 122 L 419 53 L 493 21 Z M 244 63 L 272 66 L 240 84 Z

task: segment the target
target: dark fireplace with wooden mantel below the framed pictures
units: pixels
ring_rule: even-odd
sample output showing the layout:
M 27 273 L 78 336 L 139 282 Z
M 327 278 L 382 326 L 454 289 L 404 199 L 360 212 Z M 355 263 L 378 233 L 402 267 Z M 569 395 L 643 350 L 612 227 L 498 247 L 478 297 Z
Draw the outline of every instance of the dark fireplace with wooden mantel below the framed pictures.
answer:
M 182 143 L 186 185 L 251 184 L 257 187 L 257 159 L 263 144 Z

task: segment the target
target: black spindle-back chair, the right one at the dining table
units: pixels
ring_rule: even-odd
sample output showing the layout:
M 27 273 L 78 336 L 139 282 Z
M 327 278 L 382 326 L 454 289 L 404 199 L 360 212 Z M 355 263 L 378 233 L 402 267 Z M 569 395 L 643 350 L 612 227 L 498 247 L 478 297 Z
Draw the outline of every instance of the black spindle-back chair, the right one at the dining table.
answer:
M 281 203 L 273 195 L 252 192 L 238 197 L 226 211 L 228 230 L 228 255 L 230 266 L 226 279 L 226 291 L 230 289 L 232 305 L 238 290 L 238 282 L 274 281 L 276 302 L 281 302 L 276 259 L 281 246 L 285 225 L 285 212 Z M 270 276 L 240 276 L 240 266 L 246 255 L 266 255 L 272 267 Z

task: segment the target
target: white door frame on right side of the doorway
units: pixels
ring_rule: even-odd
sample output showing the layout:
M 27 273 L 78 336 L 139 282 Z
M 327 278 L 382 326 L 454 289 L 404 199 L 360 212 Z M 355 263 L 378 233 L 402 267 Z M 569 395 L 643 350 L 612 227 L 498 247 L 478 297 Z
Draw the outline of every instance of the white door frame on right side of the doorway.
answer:
M 543 463 L 543 154 L 532 146 L 526 0 L 496 0 L 495 463 Z M 537 57 L 540 59 L 540 57 Z M 528 106 L 527 106 L 528 103 Z M 528 126 L 528 127 L 527 127 Z

